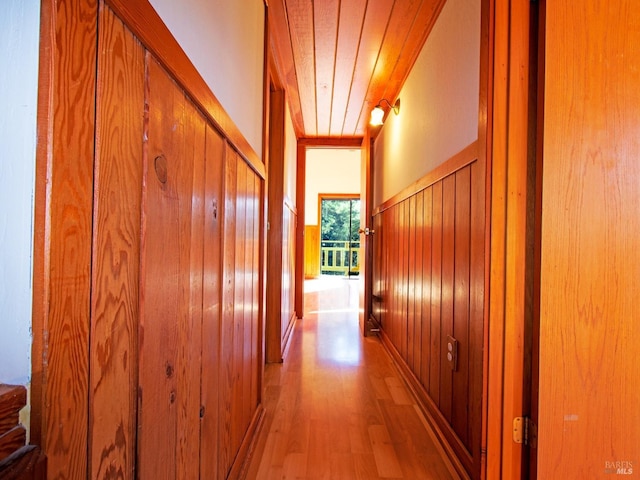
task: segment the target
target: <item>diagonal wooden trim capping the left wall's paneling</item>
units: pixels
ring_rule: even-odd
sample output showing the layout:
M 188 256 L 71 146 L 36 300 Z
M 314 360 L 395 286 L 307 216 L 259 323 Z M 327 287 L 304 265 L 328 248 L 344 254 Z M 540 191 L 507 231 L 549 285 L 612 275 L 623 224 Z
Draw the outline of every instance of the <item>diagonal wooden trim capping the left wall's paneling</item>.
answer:
M 262 159 L 224 110 L 151 4 L 147 0 L 105 0 L 105 3 L 185 88 L 193 102 L 244 157 L 251 168 L 260 177 L 266 178 L 266 168 Z

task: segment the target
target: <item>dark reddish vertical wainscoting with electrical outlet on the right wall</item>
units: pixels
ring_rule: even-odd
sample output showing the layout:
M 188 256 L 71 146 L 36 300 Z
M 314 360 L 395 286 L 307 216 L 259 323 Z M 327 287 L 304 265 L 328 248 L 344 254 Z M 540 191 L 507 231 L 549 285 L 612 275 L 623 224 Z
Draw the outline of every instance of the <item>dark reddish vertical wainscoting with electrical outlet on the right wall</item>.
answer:
M 476 150 L 374 211 L 372 315 L 459 468 L 479 478 L 485 169 Z

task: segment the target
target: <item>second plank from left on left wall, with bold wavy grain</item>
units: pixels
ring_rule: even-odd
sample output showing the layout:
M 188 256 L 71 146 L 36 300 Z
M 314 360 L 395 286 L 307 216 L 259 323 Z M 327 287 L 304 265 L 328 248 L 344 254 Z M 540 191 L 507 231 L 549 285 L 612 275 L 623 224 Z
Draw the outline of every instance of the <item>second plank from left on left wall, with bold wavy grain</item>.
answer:
M 91 295 L 90 476 L 135 472 L 144 52 L 100 12 Z

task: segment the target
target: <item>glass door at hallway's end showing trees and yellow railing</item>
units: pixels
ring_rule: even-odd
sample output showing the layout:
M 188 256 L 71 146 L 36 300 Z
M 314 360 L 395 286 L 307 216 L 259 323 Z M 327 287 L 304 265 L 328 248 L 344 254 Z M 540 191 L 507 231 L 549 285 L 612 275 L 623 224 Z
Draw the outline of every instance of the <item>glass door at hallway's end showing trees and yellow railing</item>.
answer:
M 320 274 L 360 273 L 360 197 L 320 196 Z

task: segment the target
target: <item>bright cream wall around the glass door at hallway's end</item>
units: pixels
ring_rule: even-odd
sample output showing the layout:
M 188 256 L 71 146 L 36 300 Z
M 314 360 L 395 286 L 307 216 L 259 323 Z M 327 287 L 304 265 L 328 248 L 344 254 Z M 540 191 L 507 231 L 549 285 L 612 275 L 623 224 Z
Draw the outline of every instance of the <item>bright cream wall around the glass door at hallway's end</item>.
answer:
M 305 225 L 318 225 L 318 194 L 360 193 L 360 156 L 359 149 L 307 149 Z

